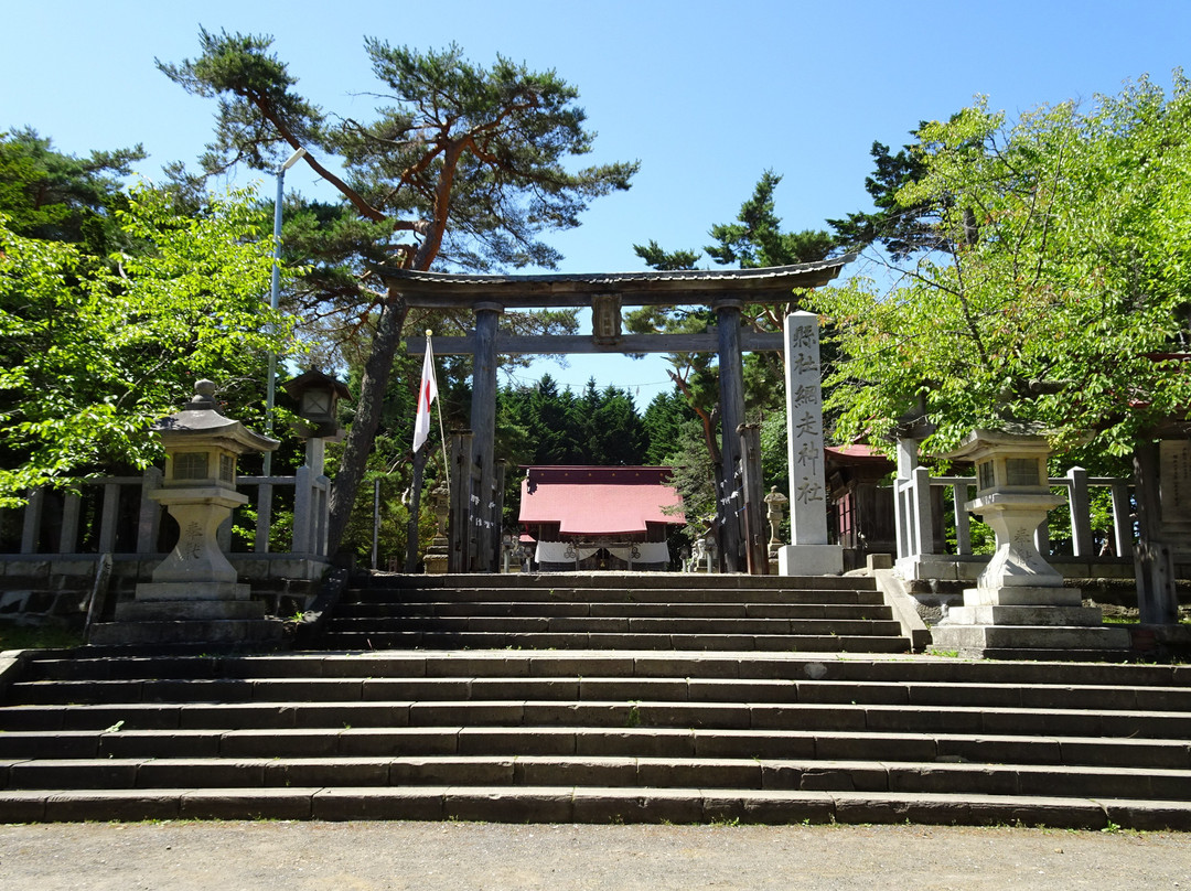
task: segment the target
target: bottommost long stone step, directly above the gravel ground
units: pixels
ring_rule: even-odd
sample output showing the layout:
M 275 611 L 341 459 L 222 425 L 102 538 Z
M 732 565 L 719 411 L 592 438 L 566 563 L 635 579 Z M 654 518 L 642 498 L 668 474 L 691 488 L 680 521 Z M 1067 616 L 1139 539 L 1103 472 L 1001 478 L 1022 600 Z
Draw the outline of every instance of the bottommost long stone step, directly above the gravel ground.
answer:
M 1191 829 L 1191 804 L 1131 798 L 587 786 L 13 790 L 0 822 L 464 820 L 532 823 L 1028 824 Z

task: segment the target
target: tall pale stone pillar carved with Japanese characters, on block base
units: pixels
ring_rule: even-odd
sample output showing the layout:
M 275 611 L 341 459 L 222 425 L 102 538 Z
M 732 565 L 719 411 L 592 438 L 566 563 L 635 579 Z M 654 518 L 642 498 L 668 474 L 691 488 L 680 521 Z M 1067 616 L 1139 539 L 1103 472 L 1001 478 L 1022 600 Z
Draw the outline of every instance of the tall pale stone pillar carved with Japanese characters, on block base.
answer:
M 843 548 L 828 543 L 823 461 L 823 388 L 818 317 L 786 316 L 786 435 L 790 461 L 790 544 L 778 549 L 781 575 L 843 572 Z

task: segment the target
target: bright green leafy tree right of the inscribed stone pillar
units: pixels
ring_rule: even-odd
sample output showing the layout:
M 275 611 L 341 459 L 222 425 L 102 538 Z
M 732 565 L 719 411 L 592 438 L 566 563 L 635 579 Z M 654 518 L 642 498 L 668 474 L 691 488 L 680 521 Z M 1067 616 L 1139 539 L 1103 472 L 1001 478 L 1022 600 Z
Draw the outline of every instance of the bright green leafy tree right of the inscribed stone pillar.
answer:
M 1037 422 L 1125 455 L 1183 417 L 1191 376 L 1191 85 L 1143 79 L 1086 111 L 1016 123 L 985 104 L 919 130 L 903 206 L 937 214 L 935 251 L 886 295 L 807 298 L 844 355 L 831 403 L 849 437 L 879 440 L 919 400 L 954 444 L 973 426 Z

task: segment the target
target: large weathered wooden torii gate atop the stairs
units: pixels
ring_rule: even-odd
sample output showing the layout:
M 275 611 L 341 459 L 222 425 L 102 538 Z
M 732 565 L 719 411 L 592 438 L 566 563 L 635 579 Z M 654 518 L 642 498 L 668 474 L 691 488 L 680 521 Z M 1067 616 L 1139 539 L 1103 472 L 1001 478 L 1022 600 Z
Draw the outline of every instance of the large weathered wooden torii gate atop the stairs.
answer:
M 497 471 L 493 443 L 497 429 L 497 356 L 565 353 L 717 353 L 719 356 L 721 468 L 723 491 L 734 491 L 741 460 L 737 428 L 744 422 L 747 351 L 782 349 L 780 332 L 742 330 L 746 304 L 790 304 L 794 288 L 833 281 L 852 256 L 797 266 L 760 269 L 596 273 L 584 275 L 456 275 L 381 268 L 380 274 L 410 307 L 472 310 L 475 329 L 464 337 L 435 338 L 435 355 L 470 354 L 472 431 L 457 437 L 459 484 L 451 492 L 450 572 L 494 572 L 500 540 L 499 498 L 493 496 Z M 692 335 L 624 335 L 624 306 L 710 306 L 716 330 Z M 509 309 L 548 310 L 588 307 L 591 335 L 528 335 L 500 332 L 500 314 Z M 422 349 L 420 338 L 406 349 Z M 763 510 L 763 505 L 760 507 Z M 724 511 L 721 510 L 721 515 Z M 741 572 L 741 531 L 736 522 L 721 524 L 721 548 L 728 572 Z

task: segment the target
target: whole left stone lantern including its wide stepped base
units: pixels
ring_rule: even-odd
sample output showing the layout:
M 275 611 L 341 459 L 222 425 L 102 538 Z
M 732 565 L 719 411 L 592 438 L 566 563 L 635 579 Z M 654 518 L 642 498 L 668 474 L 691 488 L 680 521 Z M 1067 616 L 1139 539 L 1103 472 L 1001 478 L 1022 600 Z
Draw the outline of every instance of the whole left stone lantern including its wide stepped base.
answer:
M 275 440 L 224 417 L 214 384 L 199 381 L 182 411 L 154 425 L 166 447 L 162 487 L 149 497 L 177 522 L 177 544 L 120 603 L 116 622 L 92 627 L 92 643 L 247 643 L 280 638 L 281 623 L 264 619 L 264 604 L 224 556 L 217 534 L 233 509 L 247 504 L 236 491 L 236 460 L 272 451 Z

